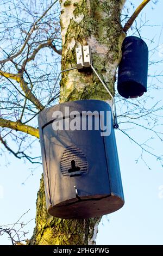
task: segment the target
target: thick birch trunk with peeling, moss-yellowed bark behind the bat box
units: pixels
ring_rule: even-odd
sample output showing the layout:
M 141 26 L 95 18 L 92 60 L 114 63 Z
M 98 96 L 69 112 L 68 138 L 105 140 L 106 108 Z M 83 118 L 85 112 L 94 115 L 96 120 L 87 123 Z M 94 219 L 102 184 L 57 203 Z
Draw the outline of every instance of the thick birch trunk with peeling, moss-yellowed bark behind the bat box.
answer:
M 90 45 L 92 62 L 114 95 L 115 72 L 121 60 L 125 34 L 120 14 L 125 0 L 60 0 L 61 69 L 76 66 L 76 47 Z M 98 99 L 109 94 L 95 74 L 77 70 L 62 74 L 60 102 Z M 93 245 L 101 218 L 61 220 L 47 214 L 43 179 L 37 194 L 36 227 L 30 245 Z

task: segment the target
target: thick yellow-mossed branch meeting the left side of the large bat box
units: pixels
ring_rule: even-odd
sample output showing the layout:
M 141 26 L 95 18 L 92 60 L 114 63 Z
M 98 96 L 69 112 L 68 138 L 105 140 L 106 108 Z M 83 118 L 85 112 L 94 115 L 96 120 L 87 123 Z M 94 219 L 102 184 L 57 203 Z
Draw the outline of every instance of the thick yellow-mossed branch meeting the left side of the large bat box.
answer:
M 0 118 L 0 126 L 3 128 L 7 127 L 15 131 L 21 131 L 29 135 L 32 135 L 36 138 L 39 138 L 39 129 L 36 129 L 26 124 L 22 124 L 20 121 L 15 122 L 15 121 L 10 121 L 8 119 Z

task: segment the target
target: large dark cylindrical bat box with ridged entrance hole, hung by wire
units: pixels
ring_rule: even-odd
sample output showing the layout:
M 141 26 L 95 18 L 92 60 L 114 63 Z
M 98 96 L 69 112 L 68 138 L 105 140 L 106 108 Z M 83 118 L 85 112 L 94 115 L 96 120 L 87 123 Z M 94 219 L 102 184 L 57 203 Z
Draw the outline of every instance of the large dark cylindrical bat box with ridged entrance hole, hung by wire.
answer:
M 48 213 L 97 217 L 124 204 L 112 113 L 108 103 L 61 103 L 39 114 Z

